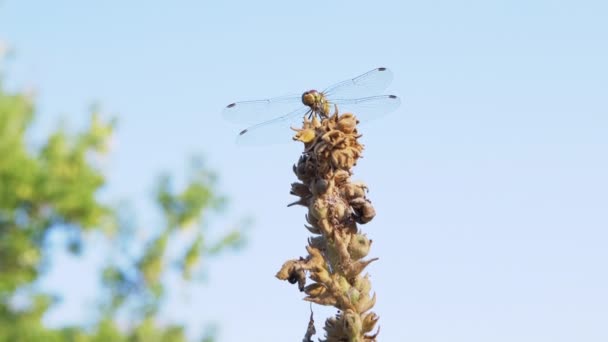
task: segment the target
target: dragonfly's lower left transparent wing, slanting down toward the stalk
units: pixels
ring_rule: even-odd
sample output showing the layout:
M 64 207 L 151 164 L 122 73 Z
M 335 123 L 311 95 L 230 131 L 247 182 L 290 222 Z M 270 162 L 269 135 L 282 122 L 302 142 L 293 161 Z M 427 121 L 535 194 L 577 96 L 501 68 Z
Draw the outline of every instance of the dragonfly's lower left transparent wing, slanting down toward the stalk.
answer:
M 308 107 L 294 110 L 279 118 L 253 125 L 241 131 L 236 141 L 239 145 L 272 145 L 292 141 L 295 132 L 290 127 L 299 127 Z

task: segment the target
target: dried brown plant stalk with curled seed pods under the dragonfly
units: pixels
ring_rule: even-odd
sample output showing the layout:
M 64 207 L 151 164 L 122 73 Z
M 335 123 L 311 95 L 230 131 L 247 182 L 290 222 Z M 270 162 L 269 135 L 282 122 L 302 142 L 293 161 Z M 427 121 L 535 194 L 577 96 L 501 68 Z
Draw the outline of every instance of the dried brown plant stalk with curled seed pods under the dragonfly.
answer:
M 325 321 L 322 341 L 327 342 L 376 341 L 378 335 L 372 333 L 378 316 L 370 311 L 376 295 L 370 296 L 369 276 L 362 275 L 377 258 L 364 260 L 372 240 L 357 226 L 376 212 L 366 197 L 367 186 L 350 180 L 363 151 L 357 124 L 353 114 L 339 115 L 336 108 L 321 121 L 305 118 L 294 136 L 304 143 L 304 153 L 293 167 L 299 182 L 291 185 L 291 194 L 299 199 L 290 206 L 308 208 L 305 227 L 314 236 L 306 246 L 308 256 L 288 260 L 276 276 L 298 283 L 304 300 L 339 310 Z M 312 280 L 308 285 L 307 276 Z M 304 341 L 312 341 L 310 329 Z

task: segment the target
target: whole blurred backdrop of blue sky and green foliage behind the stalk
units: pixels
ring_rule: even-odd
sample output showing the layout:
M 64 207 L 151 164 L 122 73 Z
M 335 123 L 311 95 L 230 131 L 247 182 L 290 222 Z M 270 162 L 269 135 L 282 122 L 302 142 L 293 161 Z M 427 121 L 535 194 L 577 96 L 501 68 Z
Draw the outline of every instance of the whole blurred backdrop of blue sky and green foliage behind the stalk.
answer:
M 603 1 L 0 1 L 0 341 L 296 341 L 297 143 L 228 103 L 375 67 L 381 341 L 606 341 Z M 331 309 L 314 306 L 317 337 Z

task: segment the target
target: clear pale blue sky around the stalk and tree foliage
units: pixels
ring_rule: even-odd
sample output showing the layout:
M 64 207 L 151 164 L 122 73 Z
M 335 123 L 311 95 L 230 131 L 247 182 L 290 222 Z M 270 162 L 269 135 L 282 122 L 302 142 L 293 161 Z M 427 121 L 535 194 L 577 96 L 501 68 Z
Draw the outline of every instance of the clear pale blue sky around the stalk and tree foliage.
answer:
M 301 146 L 242 148 L 222 120 L 233 101 L 323 88 L 392 69 L 399 110 L 362 126 L 355 178 L 378 215 L 369 268 L 382 341 L 608 340 L 608 4 L 605 1 L 0 2 L 16 50 L 10 84 L 38 91 L 32 133 L 92 102 L 119 118 L 104 196 L 149 217 L 155 176 L 202 153 L 251 215 L 242 253 L 165 310 L 194 335 L 298 341 L 308 304 L 274 278 L 303 255 L 291 165 Z M 94 251 L 59 258 L 66 294 L 49 324 L 86 320 Z M 72 279 L 70 285 L 61 281 Z M 189 296 L 189 297 L 188 297 Z M 332 310 L 315 309 L 320 324 Z

